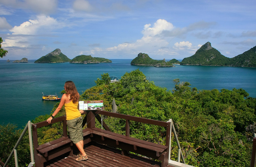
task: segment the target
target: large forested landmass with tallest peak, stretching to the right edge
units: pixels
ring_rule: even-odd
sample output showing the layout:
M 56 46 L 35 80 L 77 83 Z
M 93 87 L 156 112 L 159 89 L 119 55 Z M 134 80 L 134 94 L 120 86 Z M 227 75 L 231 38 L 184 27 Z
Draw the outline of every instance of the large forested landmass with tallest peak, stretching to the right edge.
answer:
M 184 58 L 181 65 L 199 66 L 239 66 L 256 67 L 256 46 L 234 58 L 227 58 L 211 46 L 210 42 L 205 43 L 196 53 Z

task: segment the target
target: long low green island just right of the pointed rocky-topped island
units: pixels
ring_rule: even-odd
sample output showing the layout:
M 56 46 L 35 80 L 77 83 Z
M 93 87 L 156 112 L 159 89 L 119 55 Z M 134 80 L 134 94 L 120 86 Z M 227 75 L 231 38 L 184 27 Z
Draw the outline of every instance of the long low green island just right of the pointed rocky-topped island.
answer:
M 79 55 L 73 58 L 69 63 L 112 63 L 112 61 L 106 58 L 92 57 L 91 55 Z

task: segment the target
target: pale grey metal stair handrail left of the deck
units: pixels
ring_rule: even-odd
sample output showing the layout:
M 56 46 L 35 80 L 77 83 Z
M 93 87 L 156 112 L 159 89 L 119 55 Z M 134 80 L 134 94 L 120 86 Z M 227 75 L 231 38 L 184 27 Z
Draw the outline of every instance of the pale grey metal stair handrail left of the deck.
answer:
M 18 166 L 18 158 L 17 158 L 17 150 L 16 149 L 17 149 L 18 145 L 20 144 L 20 142 L 21 142 L 21 140 L 22 140 L 22 138 L 25 135 L 27 130 L 29 131 L 29 147 L 30 147 L 30 157 L 31 157 L 31 163 L 29 163 L 28 167 L 31 167 L 35 164 L 34 154 L 33 154 L 33 141 L 32 141 L 31 125 L 32 125 L 31 121 L 28 121 L 24 130 L 21 133 L 21 136 L 19 137 L 18 141 L 16 142 L 15 146 L 13 147 L 12 152 L 10 153 L 6 162 L 4 163 L 3 167 L 7 166 L 8 162 L 12 158 L 13 154 L 14 154 L 14 158 L 15 158 L 15 166 Z

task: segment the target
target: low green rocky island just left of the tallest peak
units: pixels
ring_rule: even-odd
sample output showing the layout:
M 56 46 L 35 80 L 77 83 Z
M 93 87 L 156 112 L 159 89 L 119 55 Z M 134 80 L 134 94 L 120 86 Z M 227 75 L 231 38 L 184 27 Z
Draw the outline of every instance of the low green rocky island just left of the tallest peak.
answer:
M 136 66 L 154 66 L 154 67 L 174 67 L 170 61 L 154 60 L 145 53 L 139 53 L 136 58 L 131 61 L 131 65 Z

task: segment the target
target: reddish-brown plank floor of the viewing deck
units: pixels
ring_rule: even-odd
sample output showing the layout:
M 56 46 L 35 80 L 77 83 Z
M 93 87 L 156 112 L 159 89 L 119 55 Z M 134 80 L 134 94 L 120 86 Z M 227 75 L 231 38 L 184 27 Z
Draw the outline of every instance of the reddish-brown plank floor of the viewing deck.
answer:
M 77 150 L 74 156 L 62 155 L 46 163 L 46 167 L 159 167 L 159 162 L 135 155 L 122 156 L 121 151 L 102 144 L 85 145 L 84 150 L 88 155 L 88 160 L 76 161 Z M 173 167 L 168 165 L 167 167 Z

